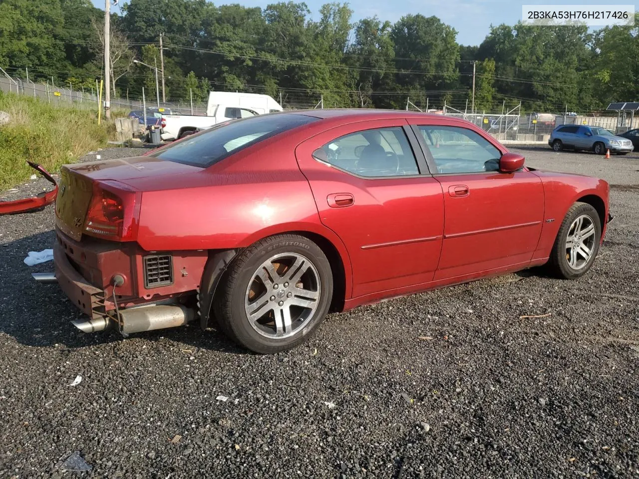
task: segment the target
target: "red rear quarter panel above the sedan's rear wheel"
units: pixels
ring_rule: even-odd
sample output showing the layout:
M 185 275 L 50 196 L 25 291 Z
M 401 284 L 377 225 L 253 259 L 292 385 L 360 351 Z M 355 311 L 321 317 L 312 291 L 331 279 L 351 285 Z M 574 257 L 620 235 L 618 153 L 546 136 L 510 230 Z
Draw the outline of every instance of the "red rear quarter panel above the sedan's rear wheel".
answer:
M 266 236 L 311 232 L 351 265 L 341 239 L 319 220 L 295 159 L 296 135 L 268 139 L 208 169 L 127 180 L 142 191 L 137 242 L 147 251 L 243 248 Z

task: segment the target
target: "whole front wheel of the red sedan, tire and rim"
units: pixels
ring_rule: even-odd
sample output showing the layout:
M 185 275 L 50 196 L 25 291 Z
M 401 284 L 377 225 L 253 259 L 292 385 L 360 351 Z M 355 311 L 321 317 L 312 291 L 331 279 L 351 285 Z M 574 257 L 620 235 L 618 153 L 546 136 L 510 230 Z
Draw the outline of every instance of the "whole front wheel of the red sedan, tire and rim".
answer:
M 578 278 L 590 270 L 601 239 L 597 210 L 590 204 L 576 202 L 566 213 L 559 228 L 548 266 L 553 275 Z

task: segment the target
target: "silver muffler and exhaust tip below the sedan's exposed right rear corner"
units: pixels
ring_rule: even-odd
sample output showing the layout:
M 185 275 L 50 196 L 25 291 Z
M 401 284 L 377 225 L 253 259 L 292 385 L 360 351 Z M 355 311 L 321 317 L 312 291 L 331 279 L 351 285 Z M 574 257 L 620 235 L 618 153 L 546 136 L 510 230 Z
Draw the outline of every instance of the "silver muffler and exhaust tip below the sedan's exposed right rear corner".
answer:
M 123 322 L 121 333 L 141 333 L 184 326 L 193 321 L 195 311 L 183 305 L 146 305 L 120 310 Z M 108 317 L 98 317 L 88 321 L 71 321 L 73 326 L 84 333 L 104 331 L 111 325 Z

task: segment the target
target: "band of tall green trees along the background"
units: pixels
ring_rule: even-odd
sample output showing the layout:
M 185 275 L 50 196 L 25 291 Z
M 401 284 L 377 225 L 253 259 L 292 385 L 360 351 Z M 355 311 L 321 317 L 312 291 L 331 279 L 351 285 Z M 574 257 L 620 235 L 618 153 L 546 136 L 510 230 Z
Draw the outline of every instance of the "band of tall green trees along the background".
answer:
M 499 110 L 505 100 L 537 111 L 601 109 L 639 95 L 639 27 L 592 31 L 582 26 L 491 27 L 479 46 L 459 45 L 437 17 L 405 15 L 353 20 L 346 3 L 266 8 L 206 0 L 128 0 L 112 13 L 112 94 L 149 104 L 162 68 L 167 99 L 206 100 L 211 89 L 282 96 L 285 107 L 401 108 L 453 102 Z M 31 79 L 54 77 L 88 88 L 102 76 L 104 12 L 91 0 L 0 0 L 0 66 Z M 639 25 L 639 14 L 635 25 Z M 157 63 L 155 63 L 157 61 Z M 186 73 L 189 72 L 189 75 Z M 90 85 L 90 86 L 89 86 Z M 160 84 L 161 88 L 161 84 Z M 161 98 L 161 94 L 160 94 Z

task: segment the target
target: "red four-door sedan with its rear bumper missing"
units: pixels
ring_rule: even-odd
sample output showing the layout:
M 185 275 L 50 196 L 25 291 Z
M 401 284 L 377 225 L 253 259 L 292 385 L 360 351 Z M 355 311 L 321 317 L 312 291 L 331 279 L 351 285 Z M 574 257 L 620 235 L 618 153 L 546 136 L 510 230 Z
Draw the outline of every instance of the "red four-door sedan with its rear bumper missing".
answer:
M 608 183 L 525 167 L 466 121 L 282 112 L 63 167 L 56 271 L 38 279 L 83 331 L 198 318 L 275 353 L 329 310 L 541 264 L 580 277 L 610 218 Z

